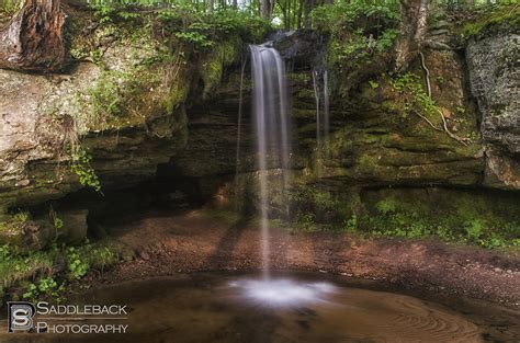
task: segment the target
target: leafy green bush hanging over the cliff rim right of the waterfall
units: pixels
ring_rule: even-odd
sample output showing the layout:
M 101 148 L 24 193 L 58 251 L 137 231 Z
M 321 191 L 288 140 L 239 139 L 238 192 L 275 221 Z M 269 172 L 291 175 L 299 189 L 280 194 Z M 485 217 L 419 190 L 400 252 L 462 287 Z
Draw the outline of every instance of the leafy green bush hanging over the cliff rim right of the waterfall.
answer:
M 329 36 L 327 64 L 334 70 L 332 91 L 339 95 L 346 96 L 352 81 L 366 80 L 391 60 L 399 33 L 397 3 L 339 2 L 316 8 L 312 19 Z

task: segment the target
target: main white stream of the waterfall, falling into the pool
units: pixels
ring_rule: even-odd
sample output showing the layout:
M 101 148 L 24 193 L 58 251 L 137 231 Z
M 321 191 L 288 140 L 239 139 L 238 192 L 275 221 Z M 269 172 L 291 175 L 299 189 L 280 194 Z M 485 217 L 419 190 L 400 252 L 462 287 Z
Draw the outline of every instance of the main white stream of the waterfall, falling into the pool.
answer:
M 267 45 L 250 45 L 253 92 L 253 117 L 257 136 L 257 156 L 260 186 L 261 253 L 263 277 L 270 277 L 269 268 L 269 213 L 272 194 L 268 186 L 270 169 L 281 168 L 282 199 L 289 183 L 291 152 L 290 121 L 285 68 L 280 54 Z M 283 202 L 283 201 L 282 201 Z M 289 215 L 287 203 L 284 202 Z

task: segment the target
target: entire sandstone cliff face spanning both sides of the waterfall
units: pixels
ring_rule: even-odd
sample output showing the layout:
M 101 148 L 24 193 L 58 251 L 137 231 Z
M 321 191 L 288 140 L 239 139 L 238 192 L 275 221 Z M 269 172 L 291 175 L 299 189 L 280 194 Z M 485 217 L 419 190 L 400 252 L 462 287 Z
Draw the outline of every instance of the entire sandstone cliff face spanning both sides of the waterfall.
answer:
M 237 168 L 238 64 L 219 66 L 219 87 L 212 88 L 211 96 L 203 96 L 208 87 L 195 71 L 196 61 L 183 67 L 171 58 L 161 61 L 165 46 L 146 33 L 128 36 L 115 27 L 100 26 L 87 42 L 83 38 L 72 44 L 74 53 L 82 57 L 78 56 L 68 75 L 0 70 L 0 217 L 8 208 L 45 203 L 81 188 L 69 165 L 74 159 L 70 149 L 78 144 L 92 156 L 90 164 L 104 191 L 159 178 L 184 185 L 177 190 L 185 194 L 225 197 L 225 193 L 236 193 L 238 171 L 246 194 L 239 196 L 255 197 L 251 184 L 257 176 L 257 156 L 248 68 Z M 332 93 L 330 136 L 324 151 L 316 145 L 313 83 L 313 71 L 324 67 L 323 58 L 309 57 L 313 44 L 323 41 L 303 34 L 276 41 L 292 66 L 287 78 L 296 182 L 342 193 L 346 206 L 352 208 L 369 188 L 518 190 L 515 39 L 518 36 L 509 35 L 470 43 L 466 58 L 482 121 L 465 91 L 468 82 L 461 57 L 452 50 L 425 53 L 430 73 L 436 76 L 431 78 L 432 96 L 449 129 L 470 137 L 482 122 L 484 145 L 478 139 L 462 145 L 450 138 L 440 129 L 440 116 L 430 117 L 436 129 L 420 116 L 406 113 L 403 94 L 392 89 L 389 80 L 374 77 L 371 83 L 352 84 L 355 96 L 350 99 Z M 420 66 L 414 71 L 422 72 Z M 362 70 L 357 72 L 362 75 Z M 270 167 L 275 179 L 279 165 Z M 81 208 L 92 213 L 89 206 Z M 80 231 L 69 235 L 70 241 L 84 235 L 81 216 L 79 221 Z

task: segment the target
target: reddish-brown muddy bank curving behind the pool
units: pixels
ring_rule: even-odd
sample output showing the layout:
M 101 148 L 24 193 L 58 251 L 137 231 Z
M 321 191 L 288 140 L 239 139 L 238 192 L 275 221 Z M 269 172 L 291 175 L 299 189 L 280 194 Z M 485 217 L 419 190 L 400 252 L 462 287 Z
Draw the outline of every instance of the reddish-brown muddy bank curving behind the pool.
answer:
M 90 274 L 92 286 L 199 271 L 261 266 L 258 225 L 202 210 L 146 213 L 112 225 L 111 236 L 136 252 L 131 262 Z M 427 240 L 360 239 L 332 232 L 271 230 L 273 270 L 319 271 L 380 281 L 437 298 L 483 299 L 520 308 L 520 258 Z

